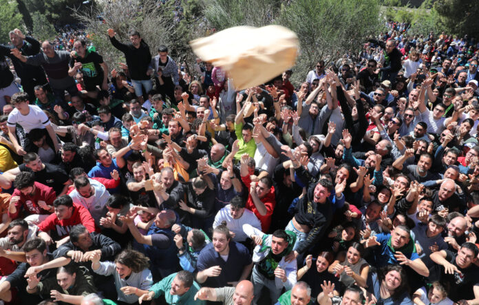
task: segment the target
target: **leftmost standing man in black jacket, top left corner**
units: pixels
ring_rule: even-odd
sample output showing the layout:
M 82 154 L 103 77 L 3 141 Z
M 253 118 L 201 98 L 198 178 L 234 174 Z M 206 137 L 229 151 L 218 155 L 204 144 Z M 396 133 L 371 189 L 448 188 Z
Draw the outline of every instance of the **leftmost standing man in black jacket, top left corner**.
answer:
M 10 33 L 10 41 L 12 45 L 0 45 L 0 56 L 8 56 L 12 60 L 15 72 L 21 78 L 21 86 L 23 91 L 28 93 L 30 98 L 34 98 L 33 88 L 36 85 L 47 84 L 45 72 L 40 66 L 29 65 L 17 59 L 13 54 L 10 54 L 12 49 L 17 49 L 24 56 L 32 56 L 39 54 L 40 43 L 30 36 L 25 36 L 21 30 L 15 29 Z

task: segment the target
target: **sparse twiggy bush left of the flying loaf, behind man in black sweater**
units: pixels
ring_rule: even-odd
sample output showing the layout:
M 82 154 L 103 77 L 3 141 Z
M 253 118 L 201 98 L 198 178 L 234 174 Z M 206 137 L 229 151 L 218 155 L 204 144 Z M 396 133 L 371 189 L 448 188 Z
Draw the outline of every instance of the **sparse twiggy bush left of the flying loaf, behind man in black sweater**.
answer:
M 111 45 L 107 30 L 115 30 L 118 41 L 129 41 L 129 32 L 138 30 L 142 39 L 149 45 L 151 54 L 156 55 L 159 45 L 167 45 L 170 54 L 175 60 L 178 54 L 191 53 L 187 42 L 194 35 L 202 35 L 200 28 L 195 28 L 198 18 L 195 14 L 199 8 L 190 0 L 185 6 L 185 14 L 188 14 L 191 23 L 180 23 L 175 20 L 173 14 L 174 1 L 158 6 L 156 0 L 116 0 L 105 1 L 92 10 L 76 10 L 73 16 L 81 21 L 87 28 L 89 39 L 94 43 L 96 50 L 103 56 L 103 60 L 110 69 L 118 70 L 118 63 L 124 62 L 123 53 Z M 100 22 L 97 16 L 101 16 L 104 22 Z M 191 56 L 190 56 L 191 59 Z

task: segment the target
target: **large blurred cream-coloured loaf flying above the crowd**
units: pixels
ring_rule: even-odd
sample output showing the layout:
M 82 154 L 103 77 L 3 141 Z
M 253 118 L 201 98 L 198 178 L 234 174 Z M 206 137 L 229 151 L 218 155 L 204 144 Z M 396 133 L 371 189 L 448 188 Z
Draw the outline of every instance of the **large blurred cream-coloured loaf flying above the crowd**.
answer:
M 200 59 L 219 66 L 237 90 L 261 85 L 295 64 L 298 37 L 280 25 L 237 26 L 190 41 Z

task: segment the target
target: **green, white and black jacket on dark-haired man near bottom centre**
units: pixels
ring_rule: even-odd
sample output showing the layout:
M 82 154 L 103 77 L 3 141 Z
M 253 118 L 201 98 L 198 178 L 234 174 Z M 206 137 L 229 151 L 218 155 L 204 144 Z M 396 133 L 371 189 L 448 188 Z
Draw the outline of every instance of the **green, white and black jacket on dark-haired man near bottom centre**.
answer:
M 268 251 L 268 254 L 264 259 L 259 262 L 258 271 L 266 276 L 269 280 L 273 280 L 275 278 L 275 269 L 278 266 L 279 261 L 286 255 L 288 255 L 292 251 L 292 247 L 295 246 L 296 242 L 296 233 L 292 231 L 286 231 L 288 235 L 288 246 L 284 249 L 283 252 L 275 255 L 273 251 L 271 251 L 271 236 L 270 234 L 263 235 L 263 243 L 261 249 L 259 249 L 259 253 Z M 269 239 L 269 242 L 266 242 Z M 267 245 L 269 244 L 269 245 Z

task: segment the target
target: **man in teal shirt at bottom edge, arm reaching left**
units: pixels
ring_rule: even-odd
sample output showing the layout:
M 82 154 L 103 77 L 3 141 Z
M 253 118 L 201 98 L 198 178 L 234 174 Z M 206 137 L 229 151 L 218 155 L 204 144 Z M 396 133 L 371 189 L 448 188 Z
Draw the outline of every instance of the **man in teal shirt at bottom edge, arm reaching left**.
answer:
M 149 301 L 164 295 L 167 304 L 201 304 L 206 302 L 194 300 L 195 294 L 200 290 L 200 285 L 193 280 L 193 273 L 189 271 L 180 271 L 164 277 L 163 280 L 154 284 L 149 289 L 149 293 L 142 295 L 138 301 Z

